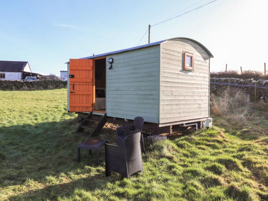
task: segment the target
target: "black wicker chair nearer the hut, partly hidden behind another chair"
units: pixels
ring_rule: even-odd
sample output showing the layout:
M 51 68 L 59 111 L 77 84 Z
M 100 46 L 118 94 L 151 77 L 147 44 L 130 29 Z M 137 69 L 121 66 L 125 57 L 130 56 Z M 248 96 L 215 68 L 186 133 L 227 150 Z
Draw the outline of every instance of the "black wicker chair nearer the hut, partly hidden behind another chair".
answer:
M 142 131 L 144 119 L 142 117 L 135 117 L 133 126 L 120 126 L 116 128 L 116 140 L 118 146 L 124 146 L 125 144 L 125 133 L 131 131 Z M 140 136 L 140 147 L 141 151 L 144 153 L 144 144 L 143 144 L 143 136 Z

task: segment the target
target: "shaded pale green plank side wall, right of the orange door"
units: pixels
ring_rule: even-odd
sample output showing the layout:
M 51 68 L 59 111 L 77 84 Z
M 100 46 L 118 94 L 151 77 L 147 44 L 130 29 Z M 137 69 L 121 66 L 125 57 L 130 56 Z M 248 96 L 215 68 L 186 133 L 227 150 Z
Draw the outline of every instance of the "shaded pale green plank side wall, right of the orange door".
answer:
M 107 116 L 159 123 L 160 45 L 114 55 L 107 69 Z M 107 66 L 109 66 L 107 62 Z

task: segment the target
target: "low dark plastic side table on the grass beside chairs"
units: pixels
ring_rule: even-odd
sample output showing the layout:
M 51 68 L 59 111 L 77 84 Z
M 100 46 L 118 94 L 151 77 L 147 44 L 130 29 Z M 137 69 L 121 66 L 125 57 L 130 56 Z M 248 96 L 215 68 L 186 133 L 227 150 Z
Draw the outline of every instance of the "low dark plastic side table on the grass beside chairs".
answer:
M 107 139 L 88 139 L 85 142 L 77 146 L 77 162 L 80 162 L 80 149 L 88 149 L 89 154 L 92 155 L 91 150 L 96 151 L 96 165 L 99 165 L 99 149 L 104 146 L 105 143 L 108 143 Z

